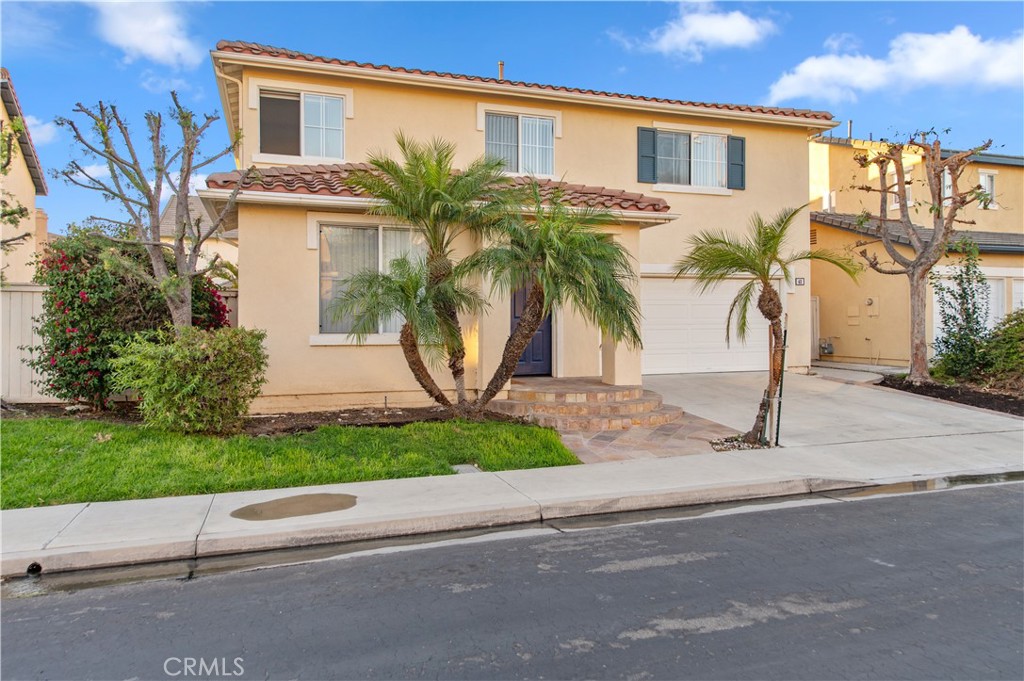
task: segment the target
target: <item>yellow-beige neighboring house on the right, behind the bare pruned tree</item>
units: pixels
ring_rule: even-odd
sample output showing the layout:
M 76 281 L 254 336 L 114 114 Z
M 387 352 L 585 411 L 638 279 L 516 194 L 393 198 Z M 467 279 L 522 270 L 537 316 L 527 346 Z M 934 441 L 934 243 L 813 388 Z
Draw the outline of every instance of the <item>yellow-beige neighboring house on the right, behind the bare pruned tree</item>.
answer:
M 811 241 L 817 247 L 859 252 L 859 242 L 879 239 L 877 223 L 861 223 L 858 219 L 864 211 L 878 214 L 879 194 L 854 188 L 862 184 L 877 186 L 878 169 L 860 168 L 854 156 L 870 156 L 880 148 L 882 142 L 862 139 L 811 140 Z M 929 202 L 931 194 L 922 183 L 921 156 L 905 155 L 903 164 L 913 182 L 910 200 Z M 953 241 L 967 237 L 978 245 L 981 268 L 989 283 L 989 325 L 994 326 L 1011 310 L 1024 307 L 1024 158 L 979 154 L 965 170 L 958 186 L 963 189 L 976 184 L 992 200 L 972 204 L 961 212 L 961 219 L 974 224 L 958 224 Z M 911 216 L 916 224 L 931 224 L 927 205 L 912 208 Z M 924 231 L 926 240 L 930 233 Z M 900 236 L 897 243 L 908 241 Z M 867 248 L 880 254 L 880 261 L 888 260 L 880 243 Z M 909 246 L 901 250 L 907 255 L 912 253 Z M 955 259 L 940 260 L 934 271 L 948 272 Z M 893 366 L 909 363 L 910 287 L 906 276 L 867 269 L 856 284 L 841 272 L 815 264 L 811 282 L 818 318 L 813 337 L 820 341 L 819 352 L 821 347 L 831 350 L 821 353 L 821 358 Z M 927 320 L 931 343 L 940 329 L 934 295 L 929 299 Z

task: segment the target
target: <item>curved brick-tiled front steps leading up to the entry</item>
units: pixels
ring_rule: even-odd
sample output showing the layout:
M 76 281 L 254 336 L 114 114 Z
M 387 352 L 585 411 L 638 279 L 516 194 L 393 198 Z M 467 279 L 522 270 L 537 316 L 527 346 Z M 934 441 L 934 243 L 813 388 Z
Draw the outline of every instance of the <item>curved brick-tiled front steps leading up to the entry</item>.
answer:
M 496 399 L 490 408 L 562 431 L 653 428 L 683 415 L 683 410 L 663 405 L 659 394 L 642 386 L 605 385 L 592 378 L 512 379 L 509 398 Z

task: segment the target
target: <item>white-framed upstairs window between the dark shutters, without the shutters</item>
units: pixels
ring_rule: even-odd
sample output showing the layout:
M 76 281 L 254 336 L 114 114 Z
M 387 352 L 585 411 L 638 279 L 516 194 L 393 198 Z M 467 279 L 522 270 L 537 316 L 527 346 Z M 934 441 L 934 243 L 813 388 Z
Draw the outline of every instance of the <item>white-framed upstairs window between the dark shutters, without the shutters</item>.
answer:
M 726 135 L 658 130 L 657 181 L 724 188 L 728 184 Z

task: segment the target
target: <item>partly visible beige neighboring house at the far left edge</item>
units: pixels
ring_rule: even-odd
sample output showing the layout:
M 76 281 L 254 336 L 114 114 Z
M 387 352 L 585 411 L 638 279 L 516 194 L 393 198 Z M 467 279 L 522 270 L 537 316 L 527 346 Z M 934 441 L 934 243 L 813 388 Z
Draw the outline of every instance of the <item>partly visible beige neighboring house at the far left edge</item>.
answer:
M 6 134 L 11 130 L 13 119 L 25 121 L 25 114 L 22 112 L 22 105 L 14 93 L 14 85 L 6 69 L 0 69 L 0 98 L 3 99 L 3 130 Z M 28 233 L 28 237 L 0 257 L 7 284 L 28 284 L 32 282 L 32 275 L 35 273 L 33 256 L 41 252 L 47 243 L 46 212 L 36 208 L 36 197 L 46 196 L 46 179 L 28 128 L 17 136 L 11 156 L 13 158 L 2 179 L 4 201 L 17 202 L 25 206 L 29 213 L 16 225 L 4 224 L 3 239 L 24 233 Z

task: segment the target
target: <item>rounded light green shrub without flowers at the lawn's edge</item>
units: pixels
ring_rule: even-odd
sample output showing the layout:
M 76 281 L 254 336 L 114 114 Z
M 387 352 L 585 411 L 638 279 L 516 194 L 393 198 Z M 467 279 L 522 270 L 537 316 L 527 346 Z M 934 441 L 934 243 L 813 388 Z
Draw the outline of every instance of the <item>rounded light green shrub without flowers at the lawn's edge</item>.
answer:
M 237 431 L 265 382 L 266 333 L 185 329 L 132 337 L 113 360 L 114 385 L 135 390 L 150 425 L 182 432 Z

